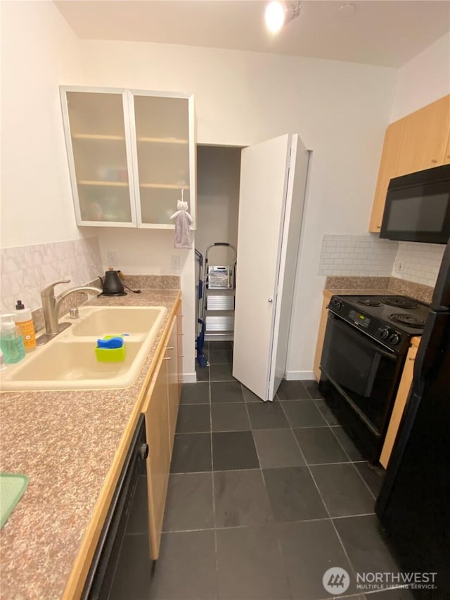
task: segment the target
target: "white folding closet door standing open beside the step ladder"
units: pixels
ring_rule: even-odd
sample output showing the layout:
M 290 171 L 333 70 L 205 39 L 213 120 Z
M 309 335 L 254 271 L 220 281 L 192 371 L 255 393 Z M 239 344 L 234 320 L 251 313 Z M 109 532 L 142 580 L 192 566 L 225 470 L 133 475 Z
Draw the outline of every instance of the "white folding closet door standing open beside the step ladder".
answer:
M 299 154 L 307 165 L 300 139 L 287 134 L 241 155 L 233 376 L 262 400 L 274 399 L 284 374 L 304 199 Z

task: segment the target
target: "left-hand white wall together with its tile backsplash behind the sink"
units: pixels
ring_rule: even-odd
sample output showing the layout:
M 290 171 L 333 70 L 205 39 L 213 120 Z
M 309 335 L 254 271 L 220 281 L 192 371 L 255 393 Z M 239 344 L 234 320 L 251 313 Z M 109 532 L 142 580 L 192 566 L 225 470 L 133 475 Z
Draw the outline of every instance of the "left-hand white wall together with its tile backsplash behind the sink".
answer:
M 82 78 L 79 41 L 52 2 L 1 2 L 1 309 L 41 305 L 44 286 L 98 274 L 75 224 L 58 86 Z

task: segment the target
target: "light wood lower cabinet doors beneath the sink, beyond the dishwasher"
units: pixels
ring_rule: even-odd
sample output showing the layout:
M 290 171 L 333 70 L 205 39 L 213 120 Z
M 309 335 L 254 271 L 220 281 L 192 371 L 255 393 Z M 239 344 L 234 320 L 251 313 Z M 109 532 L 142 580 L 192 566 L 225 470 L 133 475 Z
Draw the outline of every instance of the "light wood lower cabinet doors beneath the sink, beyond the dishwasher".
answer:
M 158 357 L 142 408 L 146 420 L 148 443 L 146 461 L 148 528 L 150 558 L 153 560 L 156 560 L 160 553 L 162 521 L 181 390 L 178 361 L 179 336 L 176 325 L 175 316 L 168 326 L 165 347 Z

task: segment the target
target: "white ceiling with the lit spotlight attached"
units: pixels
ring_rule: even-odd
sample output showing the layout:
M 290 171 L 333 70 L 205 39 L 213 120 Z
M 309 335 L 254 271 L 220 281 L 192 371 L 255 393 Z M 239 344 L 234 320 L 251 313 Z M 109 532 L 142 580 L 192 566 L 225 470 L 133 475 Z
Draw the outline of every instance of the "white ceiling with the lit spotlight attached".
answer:
M 261 0 L 56 1 L 82 39 L 291 54 L 398 68 L 450 30 L 447 0 L 303 0 L 276 35 Z M 450 59 L 449 59 L 450 60 Z

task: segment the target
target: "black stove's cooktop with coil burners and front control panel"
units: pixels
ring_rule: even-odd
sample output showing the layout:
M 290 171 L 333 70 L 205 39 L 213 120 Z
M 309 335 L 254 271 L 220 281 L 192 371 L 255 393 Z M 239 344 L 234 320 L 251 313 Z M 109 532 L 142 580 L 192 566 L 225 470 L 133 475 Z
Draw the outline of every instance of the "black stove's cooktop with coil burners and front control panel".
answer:
M 429 312 L 424 302 L 401 295 L 334 295 L 328 308 L 395 351 L 422 335 Z

